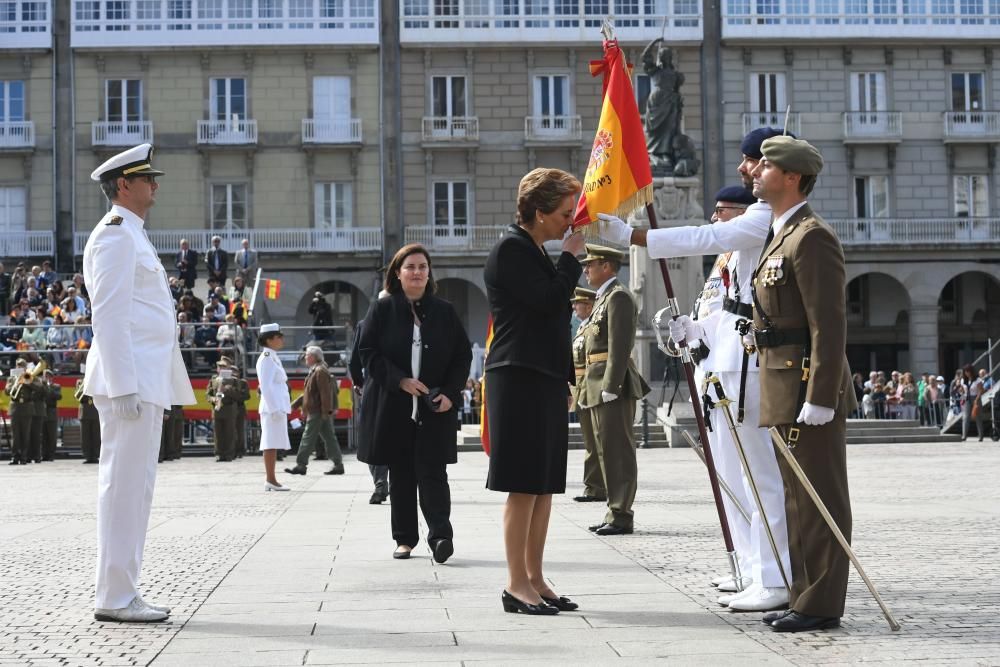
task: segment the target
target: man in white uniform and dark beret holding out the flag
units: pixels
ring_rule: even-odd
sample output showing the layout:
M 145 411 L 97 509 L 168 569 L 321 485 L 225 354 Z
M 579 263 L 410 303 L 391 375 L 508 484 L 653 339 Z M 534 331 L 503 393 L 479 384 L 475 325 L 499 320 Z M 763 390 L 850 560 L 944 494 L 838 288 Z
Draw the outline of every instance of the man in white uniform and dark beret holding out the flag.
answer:
M 765 140 L 781 134 L 781 130 L 764 127 L 750 132 L 743 138 L 740 144 L 743 159 L 738 167 L 738 172 L 744 186 L 752 184 L 750 172 L 763 157 L 761 144 Z M 683 337 L 689 342 L 702 336 L 713 340 L 716 349 L 710 353 L 712 357 L 710 370 L 719 375 L 727 396 L 734 405 L 737 405 L 740 400 L 740 375 L 744 352 L 741 337 L 735 327 L 738 320 L 752 318 L 750 281 L 771 228 L 770 206 L 765 202 L 756 202 L 747 207 L 742 215 L 728 222 L 648 231 L 632 229 L 628 224 L 614 216 L 602 214 L 600 217 L 599 233 L 603 238 L 619 245 L 647 246 L 649 256 L 654 259 L 709 253 L 732 253 L 726 261 L 730 271 L 730 286 L 727 288 L 726 294 L 728 309 L 720 311 L 716 316 L 717 321 L 706 323 L 706 326 L 699 326 L 687 316 L 682 316 L 673 323 L 672 328 L 678 337 Z M 684 328 L 683 332 L 677 329 L 678 325 Z M 712 347 L 712 343 L 708 343 L 708 345 Z M 740 440 L 746 450 L 750 469 L 761 494 L 764 511 L 767 514 L 768 524 L 777 543 L 780 563 L 789 583 L 791 583 L 784 487 L 770 436 L 767 429 L 759 427 L 760 382 L 757 360 L 755 356 L 751 356 L 747 361 L 746 389 L 743 397 L 745 416 L 744 425 L 739 429 Z M 734 413 L 733 417 L 735 419 L 737 415 Z M 716 417 L 713 417 L 713 422 L 715 421 Z M 716 455 L 719 474 L 728 479 L 733 472 L 740 470 L 741 473 L 742 471 L 732 436 L 721 415 L 718 415 L 717 426 L 714 432 L 715 436 L 719 438 L 720 446 L 713 449 L 712 453 Z M 733 472 L 727 475 L 727 470 Z M 730 484 L 730 486 L 738 487 L 740 485 Z M 720 603 L 738 611 L 783 609 L 788 605 L 788 591 L 778 567 L 779 560 L 774 557 L 771 550 L 764 532 L 763 520 L 752 501 L 753 496 L 745 476 L 742 486 L 743 497 L 746 501 L 744 508 L 752 511 L 752 516 L 749 534 L 750 557 L 740 560 L 741 564 L 747 560 L 752 563 L 751 581 L 741 594 L 723 596 L 720 598 Z M 730 512 L 727 514 L 730 515 L 729 524 L 731 527 L 740 525 Z M 744 547 L 745 549 L 746 547 Z M 746 574 L 748 573 L 744 572 L 744 575 Z M 721 581 L 720 583 L 722 590 L 735 590 L 732 582 Z

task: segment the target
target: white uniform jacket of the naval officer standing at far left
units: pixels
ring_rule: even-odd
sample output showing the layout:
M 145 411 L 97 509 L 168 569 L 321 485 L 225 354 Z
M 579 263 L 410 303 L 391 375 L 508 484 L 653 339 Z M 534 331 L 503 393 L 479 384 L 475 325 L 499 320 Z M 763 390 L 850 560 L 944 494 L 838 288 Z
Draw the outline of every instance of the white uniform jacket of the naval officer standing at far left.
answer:
M 195 402 L 181 357 L 167 275 L 143 221 L 112 206 L 83 251 L 94 341 L 83 392 L 139 399 L 163 408 Z

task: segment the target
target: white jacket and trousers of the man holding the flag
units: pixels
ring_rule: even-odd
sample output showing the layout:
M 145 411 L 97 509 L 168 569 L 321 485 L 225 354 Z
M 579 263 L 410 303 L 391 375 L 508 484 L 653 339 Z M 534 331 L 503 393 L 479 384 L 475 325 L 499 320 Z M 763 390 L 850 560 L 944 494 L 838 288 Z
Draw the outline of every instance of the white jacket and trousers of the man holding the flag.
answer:
M 728 296 L 736 298 L 738 286 L 740 302 L 752 303 L 751 278 L 770 226 L 771 207 L 764 202 L 757 202 L 748 207 L 743 215 L 728 222 L 650 230 L 646 236 L 646 244 L 649 256 L 653 259 L 732 251 L 728 266 L 730 275 L 736 276 L 736 280 L 731 282 Z M 733 402 L 730 407 L 734 420 L 737 417 L 736 406 L 740 398 L 740 370 L 744 354 L 741 336 L 736 331 L 736 322 L 739 319 L 738 315 L 720 309 L 704 320 L 701 318 L 698 320 L 705 329 L 705 342 L 710 349 L 708 358 L 702 361 L 702 367 L 719 376 L 726 395 Z M 745 418 L 739 428 L 740 441 L 743 443 L 750 470 L 757 483 L 757 490 L 760 492 L 764 511 L 767 513 L 782 565 L 791 583 L 784 486 L 771 437 L 767 429 L 759 427 L 760 376 L 756 354 L 750 357 L 747 370 Z M 740 502 L 748 512 L 752 512 L 748 536 L 738 538 L 737 534 L 746 523 L 736 516 L 735 508 L 729 504 L 729 498 L 724 498 L 726 514 L 733 533 L 733 546 L 740 557 L 740 565 L 741 567 L 750 565 L 749 570 L 743 571 L 744 574 L 752 573 L 750 576 L 753 577 L 754 583 L 760 583 L 767 588 L 782 588 L 784 581 L 767 540 L 767 534 L 764 532 L 762 518 L 753 501 L 750 485 L 743 475 L 732 434 L 719 410 L 712 413 L 712 429 L 713 434 L 709 438 L 713 445 L 712 453 L 715 455 L 718 473 L 737 497 L 743 496 Z M 715 446 L 716 442 L 718 446 Z M 743 490 L 742 494 L 740 489 Z M 740 542 L 743 543 L 742 548 Z M 748 552 L 749 557 L 744 557 L 741 551 Z

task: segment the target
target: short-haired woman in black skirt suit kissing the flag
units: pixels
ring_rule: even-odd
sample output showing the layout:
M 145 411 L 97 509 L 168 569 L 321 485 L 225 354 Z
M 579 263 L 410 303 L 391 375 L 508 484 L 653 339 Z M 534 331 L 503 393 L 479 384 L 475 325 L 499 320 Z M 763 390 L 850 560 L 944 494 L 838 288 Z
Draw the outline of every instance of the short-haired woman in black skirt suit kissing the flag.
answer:
M 580 182 L 559 169 L 535 169 L 518 187 L 517 224 L 486 260 L 493 342 L 486 358 L 490 429 L 487 488 L 506 491 L 505 611 L 555 614 L 577 605 L 542 574 L 552 494 L 566 491 L 570 297 L 582 268 L 580 234 L 563 241 L 553 265 L 542 244 L 566 236 Z

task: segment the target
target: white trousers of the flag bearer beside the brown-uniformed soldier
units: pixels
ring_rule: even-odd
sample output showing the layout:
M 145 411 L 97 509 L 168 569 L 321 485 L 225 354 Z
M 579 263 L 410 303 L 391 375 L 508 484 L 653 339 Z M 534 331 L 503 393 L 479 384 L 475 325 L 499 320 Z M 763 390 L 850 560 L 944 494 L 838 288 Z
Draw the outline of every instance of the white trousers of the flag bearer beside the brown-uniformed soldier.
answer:
M 725 390 L 726 395 L 733 401 L 729 407 L 735 421 L 738 419 L 740 374 L 738 372 L 722 372 L 718 375 L 722 381 L 722 388 Z M 714 394 L 715 392 L 713 391 L 712 393 Z M 715 397 L 713 396 L 713 398 Z M 778 468 L 777 453 L 771 442 L 771 436 L 766 428 L 758 426 L 760 424 L 760 382 L 756 373 L 750 373 L 747 376 L 746 401 L 743 407 L 745 410 L 743 424 L 737 428 L 737 431 L 739 432 L 740 442 L 743 444 L 743 451 L 750 464 L 750 472 L 753 474 L 754 482 L 757 484 L 761 504 L 764 506 L 765 514 L 767 514 L 767 521 L 774 535 L 774 542 L 781 556 L 785 574 L 788 576 L 788 583 L 791 584 L 792 570 L 788 558 L 788 524 L 785 520 L 785 490 L 781 480 L 781 471 Z M 743 508 L 751 514 L 748 546 L 751 554 L 749 560 L 752 563 L 752 569 L 746 572 L 746 574 L 750 574 L 755 583 L 759 582 L 768 588 L 784 588 L 785 584 L 781 578 L 781 571 L 778 569 L 778 561 L 774 557 L 774 552 L 771 550 L 771 543 L 768 541 L 767 533 L 764 530 L 763 518 L 757 509 L 757 503 L 754 502 L 750 482 L 743 473 L 743 467 L 740 464 L 739 454 L 736 451 L 736 443 L 733 441 L 732 433 L 729 431 L 725 417 L 721 414 L 721 409 L 717 410 L 717 412 L 719 414 L 717 416 L 713 415 L 712 421 L 714 427 L 716 419 L 718 419 L 719 429 L 723 432 L 719 436 L 722 440 L 719 449 L 723 450 L 723 458 L 726 459 L 726 483 L 734 487 L 733 492 L 736 495 L 740 495 L 742 490 L 740 502 L 746 503 L 743 505 Z M 729 475 L 733 474 L 730 472 L 730 459 L 732 459 L 732 465 L 735 466 L 733 470 L 738 474 L 738 477 L 735 478 L 735 483 L 729 481 Z M 742 519 L 739 519 L 739 523 L 742 526 L 746 526 L 746 522 Z M 742 562 L 741 560 L 741 565 Z

